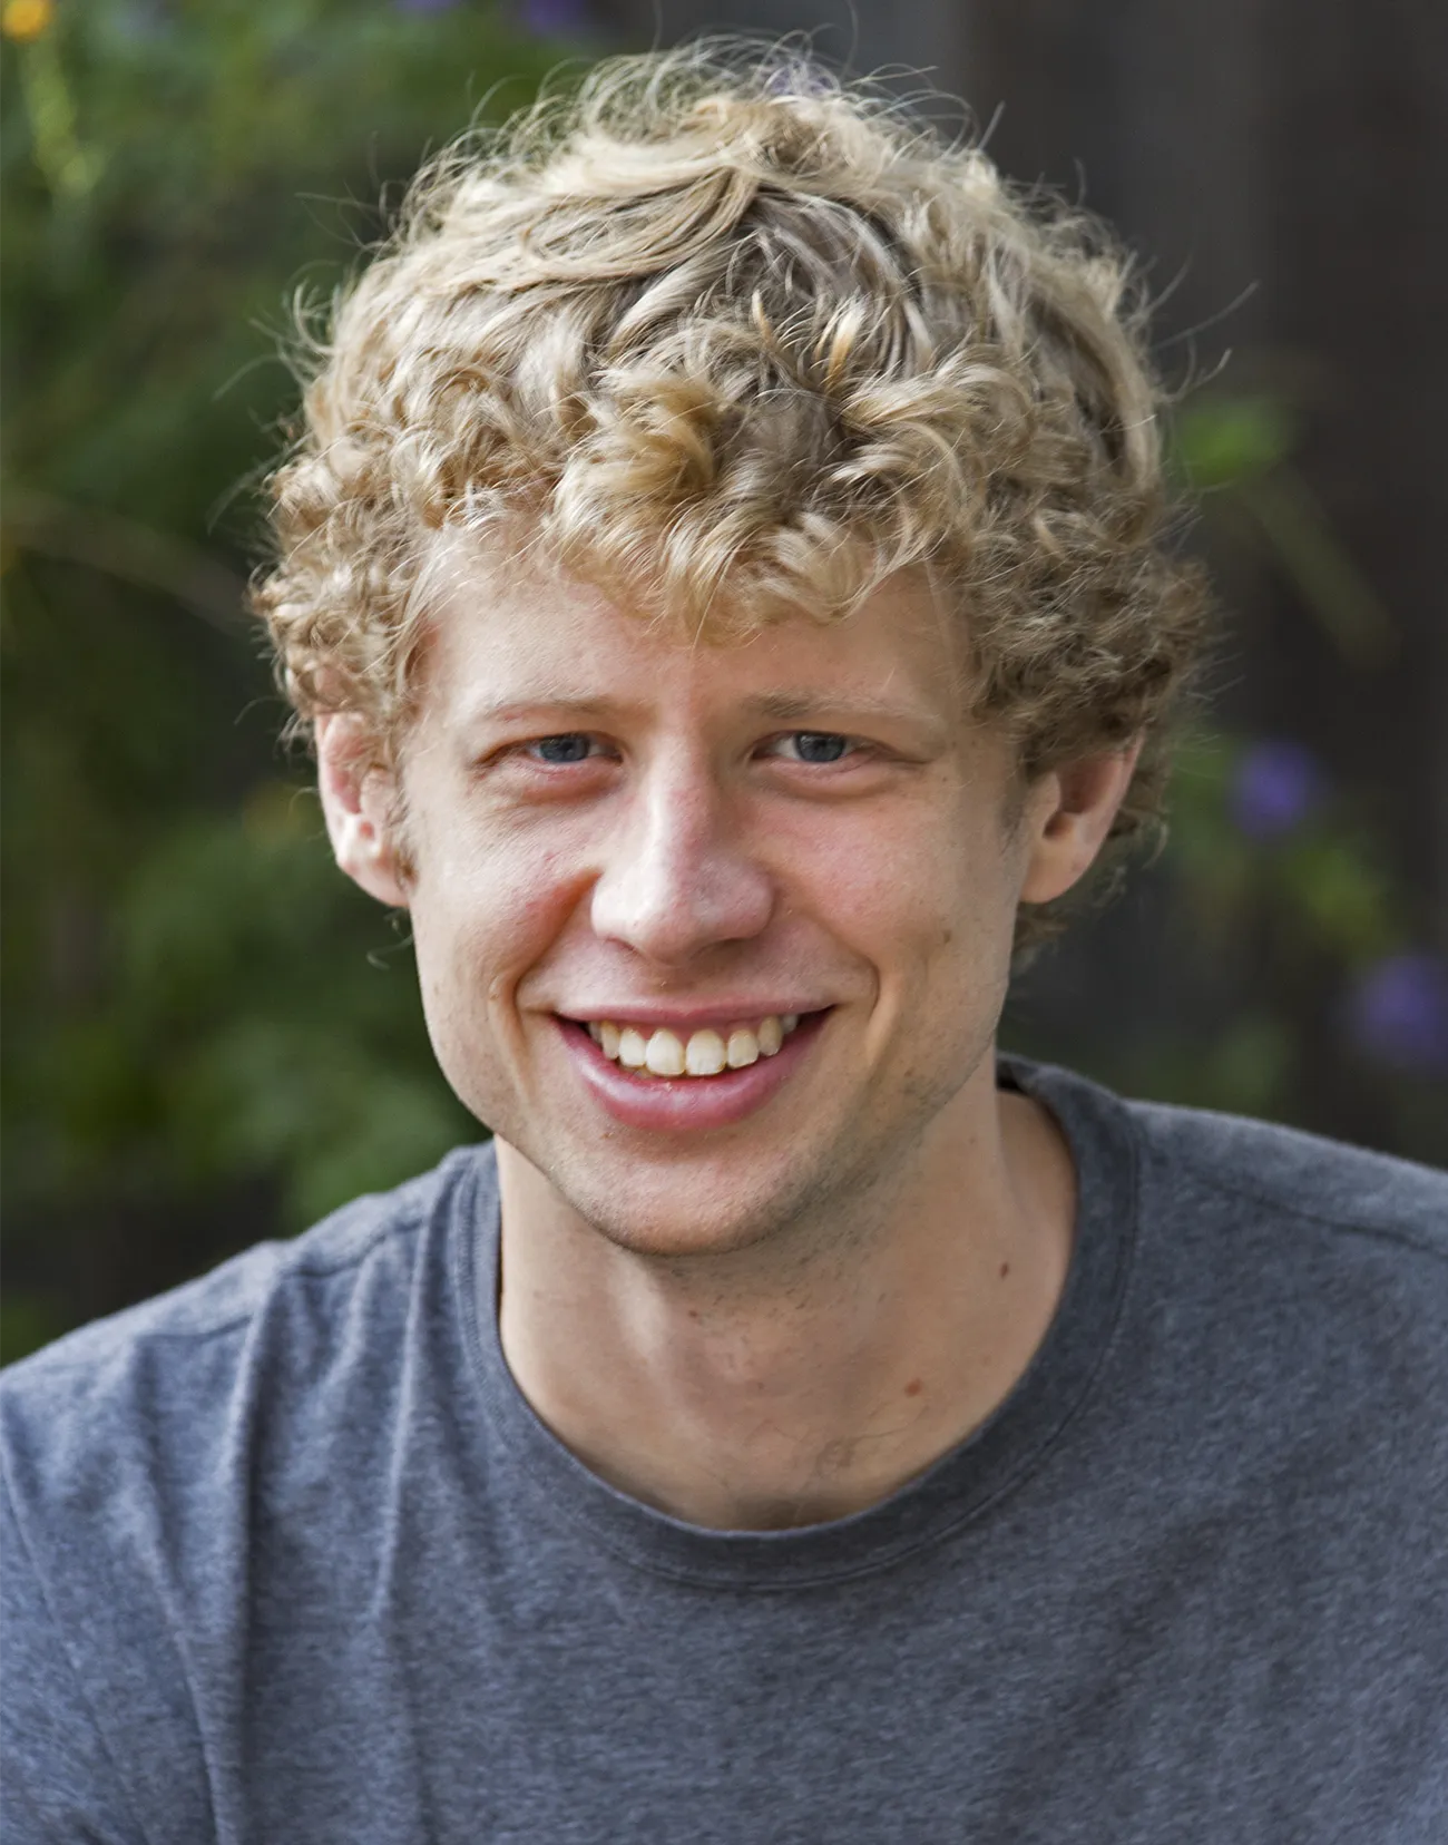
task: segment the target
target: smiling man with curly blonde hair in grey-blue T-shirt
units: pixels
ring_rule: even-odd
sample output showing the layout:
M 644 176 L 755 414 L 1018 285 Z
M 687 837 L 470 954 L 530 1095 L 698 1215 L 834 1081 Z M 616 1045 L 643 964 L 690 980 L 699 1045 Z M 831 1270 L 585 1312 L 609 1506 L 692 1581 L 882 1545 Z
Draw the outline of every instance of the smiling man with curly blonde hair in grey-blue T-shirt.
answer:
M 994 1053 L 1199 629 L 1109 244 L 607 65 L 275 500 L 496 1138 L 0 1384 L 0 1839 L 1448 1836 L 1448 1181 Z

